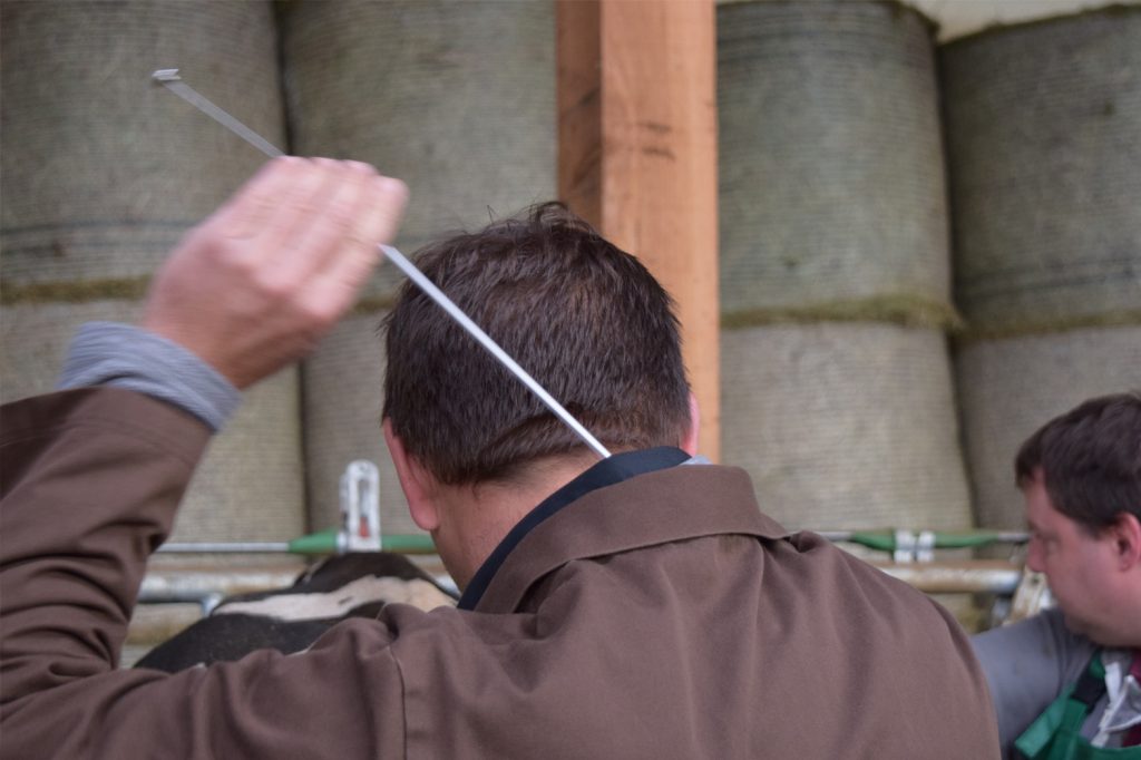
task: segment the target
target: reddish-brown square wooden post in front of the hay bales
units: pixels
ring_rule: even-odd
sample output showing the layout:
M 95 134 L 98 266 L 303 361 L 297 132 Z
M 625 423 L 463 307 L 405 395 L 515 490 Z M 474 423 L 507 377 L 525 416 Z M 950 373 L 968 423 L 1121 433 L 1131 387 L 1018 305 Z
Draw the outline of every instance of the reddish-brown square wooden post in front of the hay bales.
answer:
M 714 0 L 558 0 L 559 196 L 678 302 L 720 452 Z

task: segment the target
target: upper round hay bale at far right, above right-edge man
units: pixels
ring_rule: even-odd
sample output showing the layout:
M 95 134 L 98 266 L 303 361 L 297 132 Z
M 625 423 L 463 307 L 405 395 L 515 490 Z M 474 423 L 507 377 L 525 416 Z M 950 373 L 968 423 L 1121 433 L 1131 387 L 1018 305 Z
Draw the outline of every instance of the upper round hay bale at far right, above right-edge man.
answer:
M 971 330 L 1141 323 L 1141 8 L 984 32 L 940 59 Z

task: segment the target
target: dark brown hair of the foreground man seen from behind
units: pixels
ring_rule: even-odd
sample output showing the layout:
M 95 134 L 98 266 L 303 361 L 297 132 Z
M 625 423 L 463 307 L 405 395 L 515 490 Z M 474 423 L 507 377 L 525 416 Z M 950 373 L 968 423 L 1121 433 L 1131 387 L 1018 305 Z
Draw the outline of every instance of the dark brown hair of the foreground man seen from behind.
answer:
M 436 283 L 612 451 L 678 445 L 689 386 L 665 290 L 558 203 L 421 249 Z M 411 283 L 385 320 L 383 417 L 440 483 L 583 444 Z

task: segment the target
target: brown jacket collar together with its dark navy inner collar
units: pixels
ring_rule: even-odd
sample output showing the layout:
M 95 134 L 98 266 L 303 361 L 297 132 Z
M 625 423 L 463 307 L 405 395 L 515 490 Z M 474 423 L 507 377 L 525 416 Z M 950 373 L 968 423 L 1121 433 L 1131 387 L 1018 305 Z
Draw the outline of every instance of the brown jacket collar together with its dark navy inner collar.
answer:
M 551 494 L 510 532 L 472 577 L 462 609 L 513 612 L 527 590 L 575 559 L 670 541 L 788 533 L 761 514 L 744 470 L 677 467 L 677 448 L 617 454 Z

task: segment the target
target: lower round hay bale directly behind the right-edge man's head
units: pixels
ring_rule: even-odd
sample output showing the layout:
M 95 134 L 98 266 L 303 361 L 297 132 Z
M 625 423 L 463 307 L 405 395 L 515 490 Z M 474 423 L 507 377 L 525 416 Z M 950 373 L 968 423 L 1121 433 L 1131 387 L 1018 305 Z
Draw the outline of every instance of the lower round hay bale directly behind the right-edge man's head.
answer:
M 1021 528 L 1018 447 L 1086 398 L 1141 389 L 1141 326 L 972 342 L 956 375 L 979 525 Z

